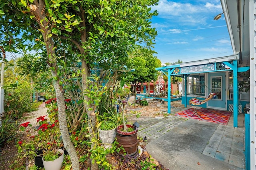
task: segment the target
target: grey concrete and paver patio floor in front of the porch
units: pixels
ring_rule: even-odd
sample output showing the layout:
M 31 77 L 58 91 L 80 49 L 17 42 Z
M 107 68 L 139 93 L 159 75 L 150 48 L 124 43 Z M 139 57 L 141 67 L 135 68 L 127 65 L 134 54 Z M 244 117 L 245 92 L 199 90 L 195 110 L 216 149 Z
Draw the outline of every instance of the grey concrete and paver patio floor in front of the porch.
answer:
M 186 108 L 185 108 L 186 109 Z M 132 117 L 140 124 L 138 136 L 147 138 L 146 150 L 165 168 L 172 170 L 243 170 L 244 114 L 238 115 L 238 128 L 233 115 L 228 125 L 174 116 Z

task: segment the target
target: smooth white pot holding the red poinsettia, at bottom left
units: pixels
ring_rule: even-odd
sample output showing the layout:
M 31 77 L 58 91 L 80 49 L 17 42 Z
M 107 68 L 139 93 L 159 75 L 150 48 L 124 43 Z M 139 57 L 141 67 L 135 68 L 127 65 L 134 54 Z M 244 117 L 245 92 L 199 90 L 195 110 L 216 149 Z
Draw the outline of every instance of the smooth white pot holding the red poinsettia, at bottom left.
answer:
M 63 159 L 64 159 L 64 150 L 59 149 L 58 151 L 60 153 L 62 153 L 62 155 L 60 157 L 58 157 L 57 159 L 55 159 L 55 160 L 45 161 L 44 158 L 42 158 L 45 170 L 60 170 L 61 169 L 62 162 L 63 162 Z

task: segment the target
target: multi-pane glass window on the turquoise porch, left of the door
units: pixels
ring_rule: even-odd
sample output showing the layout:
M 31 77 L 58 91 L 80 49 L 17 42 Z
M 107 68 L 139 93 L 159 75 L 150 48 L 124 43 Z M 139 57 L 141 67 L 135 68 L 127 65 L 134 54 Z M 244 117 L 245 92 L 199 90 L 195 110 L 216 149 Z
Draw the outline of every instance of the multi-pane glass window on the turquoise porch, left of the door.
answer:
M 190 75 L 187 78 L 187 94 L 205 96 L 204 74 Z

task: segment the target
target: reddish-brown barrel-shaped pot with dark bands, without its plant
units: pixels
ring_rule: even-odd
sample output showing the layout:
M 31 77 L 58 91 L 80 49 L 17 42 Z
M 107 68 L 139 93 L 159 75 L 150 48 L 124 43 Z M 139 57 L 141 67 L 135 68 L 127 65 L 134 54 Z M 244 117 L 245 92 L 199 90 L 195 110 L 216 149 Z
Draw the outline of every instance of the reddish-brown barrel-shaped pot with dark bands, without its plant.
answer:
M 126 153 L 129 156 L 138 156 L 138 139 L 137 139 L 137 132 L 138 128 L 134 127 L 133 125 L 126 125 L 126 127 L 131 127 L 134 130 L 132 132 L 124 132 L 120 129 L 124 128 L 124 125 L 120 125 L 116 128 L 116 141 L 118 142 L 118 147 L 121 146 L 124 150 L 120 150 L 118 153 L 120 156 L 124 156 Z

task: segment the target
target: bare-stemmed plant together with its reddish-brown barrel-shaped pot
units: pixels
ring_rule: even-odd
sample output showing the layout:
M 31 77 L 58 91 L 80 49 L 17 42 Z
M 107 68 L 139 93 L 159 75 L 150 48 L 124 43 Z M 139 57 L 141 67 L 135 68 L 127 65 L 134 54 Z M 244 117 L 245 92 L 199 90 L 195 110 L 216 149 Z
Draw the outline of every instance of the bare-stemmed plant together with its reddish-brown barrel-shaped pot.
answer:
M 122 101 L 122 118 L 123 118 L 123 125 L 116 127 L 116 141 L 118 142 L 120 152 L 118 153 L 120 156 L 129 155 L 133 157 L 138 156 L 138 139 L 137 139 L 137 132 L 138 132 L 138 125 L 126 125 L 126 120 L 124 116 L 125 106 L 127 104 L 126 99 Z

